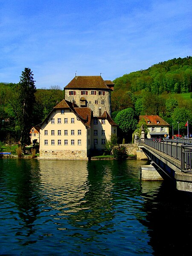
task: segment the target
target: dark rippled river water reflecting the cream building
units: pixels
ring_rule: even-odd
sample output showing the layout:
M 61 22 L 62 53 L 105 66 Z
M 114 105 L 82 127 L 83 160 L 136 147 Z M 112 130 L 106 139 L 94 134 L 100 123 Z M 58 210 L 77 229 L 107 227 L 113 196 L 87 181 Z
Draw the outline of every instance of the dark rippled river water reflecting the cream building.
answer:
M 0 159 L 0 255 L 192 255 L 192 197 L 145 163 Z

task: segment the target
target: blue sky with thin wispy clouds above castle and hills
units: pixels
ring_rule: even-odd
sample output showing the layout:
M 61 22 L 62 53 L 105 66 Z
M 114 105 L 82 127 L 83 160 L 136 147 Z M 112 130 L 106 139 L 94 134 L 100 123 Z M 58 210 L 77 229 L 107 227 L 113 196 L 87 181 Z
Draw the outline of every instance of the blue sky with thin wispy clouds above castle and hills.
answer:
M 192 55 L 192 0 L 0 0 L 0 82 L 113 80 Z

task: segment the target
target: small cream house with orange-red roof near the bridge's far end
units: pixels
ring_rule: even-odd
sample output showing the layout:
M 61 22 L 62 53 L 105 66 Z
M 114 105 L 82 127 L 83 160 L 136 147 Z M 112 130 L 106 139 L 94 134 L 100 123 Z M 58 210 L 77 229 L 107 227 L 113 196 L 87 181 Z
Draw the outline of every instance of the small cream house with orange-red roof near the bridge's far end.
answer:
M 164 138 L 169 136 L 169 124 L 163 120 L 160 116 L 140 116 L 140 121 L 145 120 L 148 134 L 147 138 Z

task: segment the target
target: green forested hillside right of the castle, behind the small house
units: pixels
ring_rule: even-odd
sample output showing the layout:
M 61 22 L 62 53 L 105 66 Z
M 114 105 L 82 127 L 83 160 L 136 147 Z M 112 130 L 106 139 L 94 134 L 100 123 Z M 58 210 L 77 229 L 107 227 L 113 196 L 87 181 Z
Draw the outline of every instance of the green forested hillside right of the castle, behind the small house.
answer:
M 174 58 L 154 64 L 147 70 L 125 74 L 114 81 L 114 91 L 111 95 L 112 117 L 120 125 L 125 109 L 138 120 L 140 115 L 159 115 L 172 124 L 177 133 L 177 122 L 180 132 L 186 135 L 186 121 L 189 121 L 189 132 L 192 132 L 192 57 Z M 131 110 L 130 110 L 131 111 Z M 127 127 L 127 125 L 126 125 Z M 136 129 L 132 125 L 129 132 L 123 131 L 131 140 L 131 134 Z

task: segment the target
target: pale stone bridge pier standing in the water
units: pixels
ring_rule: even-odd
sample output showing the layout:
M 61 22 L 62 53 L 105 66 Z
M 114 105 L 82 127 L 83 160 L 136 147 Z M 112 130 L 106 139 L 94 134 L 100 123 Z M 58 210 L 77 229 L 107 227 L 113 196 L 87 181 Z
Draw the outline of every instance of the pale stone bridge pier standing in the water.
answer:
M 141 180 L 163 180 L 154 166 L 145 165 L 141 166 Z

